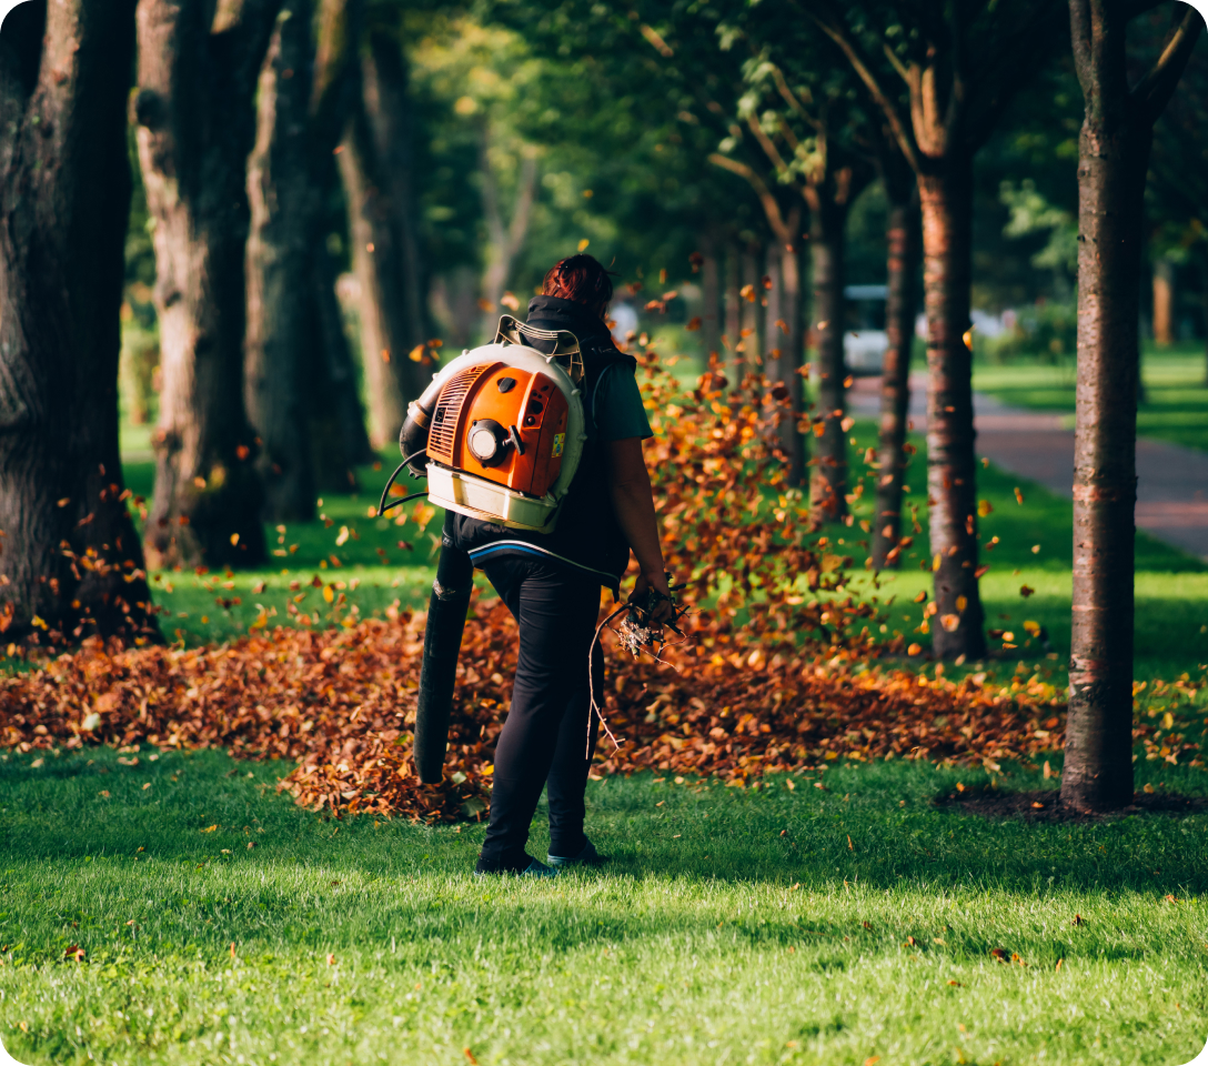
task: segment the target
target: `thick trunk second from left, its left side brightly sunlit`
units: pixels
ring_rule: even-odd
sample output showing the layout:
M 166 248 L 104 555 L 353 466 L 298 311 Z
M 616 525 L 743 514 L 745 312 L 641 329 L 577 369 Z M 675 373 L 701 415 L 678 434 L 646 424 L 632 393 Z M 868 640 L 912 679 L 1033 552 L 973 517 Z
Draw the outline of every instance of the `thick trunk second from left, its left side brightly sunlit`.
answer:
M 257 566 L 263 489 L 243 400 L 244 168 L 280 0 L 208 15 L 139 0 L 139 162 L 155 221 L 163 392 L 153 435 L 152 566 Z

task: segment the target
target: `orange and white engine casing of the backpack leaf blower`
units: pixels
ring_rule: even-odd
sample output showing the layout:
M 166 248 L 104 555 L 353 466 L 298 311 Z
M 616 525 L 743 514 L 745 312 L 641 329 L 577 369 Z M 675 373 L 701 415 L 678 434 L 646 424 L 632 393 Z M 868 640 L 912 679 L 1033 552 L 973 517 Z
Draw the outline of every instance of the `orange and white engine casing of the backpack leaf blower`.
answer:
M 496 342 L 440 372 L 428 424 L 430 503 L 517 529 L 553 529 L 583 442 L 581 390 L 558 360 L 564 353 Z

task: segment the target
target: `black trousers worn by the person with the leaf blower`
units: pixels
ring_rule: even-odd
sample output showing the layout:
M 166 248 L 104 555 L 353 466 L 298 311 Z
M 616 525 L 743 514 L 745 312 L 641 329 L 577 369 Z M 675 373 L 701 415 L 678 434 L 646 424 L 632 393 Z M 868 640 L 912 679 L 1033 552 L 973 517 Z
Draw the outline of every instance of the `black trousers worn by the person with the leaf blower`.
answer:
M 483 568 L 519 625 L 512 705 L 495 748 L 490 823 L 480 870 L 519 870 L 541 788 L 550 804 L 550 851 L 577 854 L 583 790 L 598 722 L 591 688 L 604 676 L 597 647 L 587 649 L 599 613 L 599 579 L 540 556 L 506 556 Z M 597 688 L 597 700 L 600 690 Z M 588 720 L 591 719 L 591 720 Z

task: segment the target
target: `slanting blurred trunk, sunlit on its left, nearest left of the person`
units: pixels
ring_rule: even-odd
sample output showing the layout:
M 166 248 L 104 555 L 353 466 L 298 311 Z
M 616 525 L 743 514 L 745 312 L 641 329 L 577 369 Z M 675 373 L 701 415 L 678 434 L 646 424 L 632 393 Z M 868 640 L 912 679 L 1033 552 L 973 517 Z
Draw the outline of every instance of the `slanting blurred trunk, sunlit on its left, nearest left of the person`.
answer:
M 413 228 L 407 70 L 400 42 L 385 25 L 368 30 L 360 83 L 339 169 L 361 291 L 370 440 L 382 448 L 397 439 L 407 401 L 419 395 L 429 376 L 408 358 L 425 336 L 423 276 Z

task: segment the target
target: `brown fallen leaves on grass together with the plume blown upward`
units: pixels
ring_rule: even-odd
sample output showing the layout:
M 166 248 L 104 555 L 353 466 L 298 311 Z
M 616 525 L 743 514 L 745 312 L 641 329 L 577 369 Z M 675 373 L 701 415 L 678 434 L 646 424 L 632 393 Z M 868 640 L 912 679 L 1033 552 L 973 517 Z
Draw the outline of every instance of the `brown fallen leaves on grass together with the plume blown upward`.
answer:
M 994 767 L 1061 746 L 1063 696 L 1039 676 L 954 684 L 877 665 L 907 650 L 905 641 L 873 632 L 887 604 L 848 593 L 852 560 L 809 531 L 800 491 L 783 487 L 767 445 L 776 398 L 761 396 L 757 382 L 736 398 L 716 370 L 686 396 L 652 352 L 640 361 L 661 430 L 650 465 L 667 558 L 693 610 L 686 639 L 662 662 L 634 661 L 606 638 L 618 747 L 600 745 L 600 772 L 734 781 L 838 758 Z M 0 680 L 0 743 L 222 747 L 298 760 L 283 787 L 308 805 L 480 818 L 511 695 L 511 615 L 476 601 L 446 780 L 425 787 L 410 758 L 424 615 L 388 614 L 326 631 L 252 632 L 217 648 L 91 643 Z

